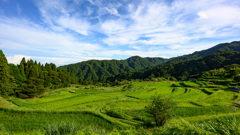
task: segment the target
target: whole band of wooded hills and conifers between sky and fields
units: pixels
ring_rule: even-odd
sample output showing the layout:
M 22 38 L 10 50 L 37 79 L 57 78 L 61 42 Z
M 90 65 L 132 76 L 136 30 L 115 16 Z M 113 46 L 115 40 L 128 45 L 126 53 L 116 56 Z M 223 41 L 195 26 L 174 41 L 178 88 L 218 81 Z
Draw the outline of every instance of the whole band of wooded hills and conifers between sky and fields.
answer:
M 240 42 L 235 41 L 171 59 L 133 56 L 126 60 L 90 60 L 57 68 L 53 63 L 42 65 L 25 58 L 19 65 L 8 64 L 0 50 L 0 96 L 29 98 L 46 88 L 81 81 L 114 82 L 154 77 L 186 80 L 204 71 L 240 64 L 239 51 Z

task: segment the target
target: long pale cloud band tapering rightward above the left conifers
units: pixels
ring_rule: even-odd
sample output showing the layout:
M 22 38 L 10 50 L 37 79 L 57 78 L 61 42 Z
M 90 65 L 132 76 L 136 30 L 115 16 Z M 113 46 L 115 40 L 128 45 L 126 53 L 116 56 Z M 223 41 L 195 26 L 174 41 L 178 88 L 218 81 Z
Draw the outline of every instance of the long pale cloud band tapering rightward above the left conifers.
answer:
M 8 19 L 0 21 L 0 43 L 4 49 L 15 52 L 28 51 L 48 55 L 92 54 L 101 49 L 99 45 L 82 42 L 68 33 L 56 33 L 41 26 L 31 25 L 26 20 Z

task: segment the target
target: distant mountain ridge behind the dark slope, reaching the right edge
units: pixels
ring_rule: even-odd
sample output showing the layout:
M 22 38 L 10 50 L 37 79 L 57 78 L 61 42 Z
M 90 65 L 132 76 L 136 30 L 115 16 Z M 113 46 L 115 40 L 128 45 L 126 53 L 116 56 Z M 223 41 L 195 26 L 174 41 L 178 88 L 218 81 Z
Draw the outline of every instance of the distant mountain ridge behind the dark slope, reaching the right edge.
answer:
M 101 80 L 103 78 L 122 73 L 131 73 L 151 69 L 152 67 L 158 66 L 160 64 L 174 64 L 198 59 L 219 51 L 240 52 L 240 41 L 218 44 L 206 50 L 196 51 L 192 54 L 174 57 L 170 59 L 158 57 L 142 58 L 139 56 L 133 56 L 126 60 L 89 60 L 76 64 L 61 66 L 60 68 L 65 68 L 67 69 L 67 71 L 73 72 L 81 80 Z

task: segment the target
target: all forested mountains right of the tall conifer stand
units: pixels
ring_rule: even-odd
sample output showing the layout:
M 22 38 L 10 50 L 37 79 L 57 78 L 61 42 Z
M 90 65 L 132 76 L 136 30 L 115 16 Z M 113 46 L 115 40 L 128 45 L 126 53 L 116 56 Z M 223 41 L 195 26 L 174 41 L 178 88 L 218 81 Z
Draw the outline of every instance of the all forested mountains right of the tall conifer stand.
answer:
M 114 83 L 117 83 L 116 80 L 152 79 L 154 77 L 185 80 L 188 79 L 189 75 L 198 74 L 214 68 L 221 68 L 221 66 L 224 65 L 237 64 L 235 63 L 237 61 L 239 64 L 239 59 L 229 61 L 231 58 L 227 56 L 228 54 L 217 53 L 220 51 L 240 52 L 240 41 L 219 44 L 207 50 L 170 59 L 141 58 L 134 56 L 126 60 L 90 60 L 62 66 L 60 68 L 73 72 L 80 78 L 80 83 L 82 84 L 93 84 L 96 81 L 106 82 L 105 79 L 107 77 L 110 77 L 107 80 Z M 206 57 L 213 53 L 216 54 Z M 229 53 L 229 55 L 233 54 Z M 203 57 L 205 58 L 202 59 Z M 239 55 L 236 55 L 236 57 L 239 57 Z M 214 66 L 215 64 L 217 65 Z M 189 65 L 190 67 L 188 67 Z M 117 76 L 111 77 L 114 75 Z

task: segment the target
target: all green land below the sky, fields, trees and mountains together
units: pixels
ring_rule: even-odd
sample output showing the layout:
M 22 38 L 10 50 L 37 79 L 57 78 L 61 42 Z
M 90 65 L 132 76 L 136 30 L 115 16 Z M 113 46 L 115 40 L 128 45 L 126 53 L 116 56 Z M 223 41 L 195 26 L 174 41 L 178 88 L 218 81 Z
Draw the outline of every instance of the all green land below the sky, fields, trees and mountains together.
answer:
M 236 49 L 239 42 L 168 60 L 60 68 L 8 64 L 0 51 L 0 134 L 239 134 Z

